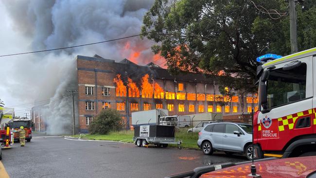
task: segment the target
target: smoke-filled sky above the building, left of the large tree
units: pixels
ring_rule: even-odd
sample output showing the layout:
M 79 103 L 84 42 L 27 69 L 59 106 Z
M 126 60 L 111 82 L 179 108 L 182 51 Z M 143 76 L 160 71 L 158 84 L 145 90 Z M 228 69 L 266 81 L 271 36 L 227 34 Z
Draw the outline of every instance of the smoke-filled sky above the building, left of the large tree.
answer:
M 140 33 L 142 17 L 154 0 L 1 0 L 0 55 L 60 48 Z M 139 37 L 76 49 L 0 57 L 0 99 L 6 107 L 65 95 L 76 88 L 76 55 L 140 65 L 158 56 L 154 42 Z M 161 63 L 161 61 L 157 61 Z M 72 77 L 72 78 L 71 78 Z M 67 93 L 66 93 L 67 94 Z M 15 107 L 23 115 L 33 105 Z

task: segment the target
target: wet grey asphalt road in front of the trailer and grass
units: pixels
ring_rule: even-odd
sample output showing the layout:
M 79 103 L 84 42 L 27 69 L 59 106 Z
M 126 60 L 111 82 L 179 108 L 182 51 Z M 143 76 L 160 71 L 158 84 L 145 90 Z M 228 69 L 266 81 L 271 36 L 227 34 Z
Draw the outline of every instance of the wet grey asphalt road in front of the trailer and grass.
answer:
M 197 150 L 63 137 L 34 137 L 25 147 L 15 143 L 2 155 L 11 178 L 163 178 L 198 166 L 246 161 L 243 156 L 224 153 L 207 156 Z

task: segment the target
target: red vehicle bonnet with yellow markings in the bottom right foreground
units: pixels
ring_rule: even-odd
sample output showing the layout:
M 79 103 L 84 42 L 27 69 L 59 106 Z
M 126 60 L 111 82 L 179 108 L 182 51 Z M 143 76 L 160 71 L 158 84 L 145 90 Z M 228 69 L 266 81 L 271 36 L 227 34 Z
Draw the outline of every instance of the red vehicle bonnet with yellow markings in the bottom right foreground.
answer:
M 316 156 L 299 158 L 266 158 L 254 160 L 260 178 L 316 178 Z M 226 162 L 223 164 L 197 167 L 193 171 L 166 178 L 252 178 L 251 161 Z M 259 177 L 257 177 L 259 178 Z

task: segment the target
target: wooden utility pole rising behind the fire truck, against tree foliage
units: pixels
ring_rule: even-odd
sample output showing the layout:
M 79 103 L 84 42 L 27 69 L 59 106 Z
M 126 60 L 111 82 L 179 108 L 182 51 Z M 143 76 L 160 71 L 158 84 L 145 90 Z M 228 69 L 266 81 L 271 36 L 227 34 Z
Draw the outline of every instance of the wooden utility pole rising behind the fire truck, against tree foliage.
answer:
M 290 38 L 291 38 L 291 52 L 298 52 L 298 33 L 297 20 L 295 10 L 295 0 L 289 0 L 289 14 L 290 14 Z

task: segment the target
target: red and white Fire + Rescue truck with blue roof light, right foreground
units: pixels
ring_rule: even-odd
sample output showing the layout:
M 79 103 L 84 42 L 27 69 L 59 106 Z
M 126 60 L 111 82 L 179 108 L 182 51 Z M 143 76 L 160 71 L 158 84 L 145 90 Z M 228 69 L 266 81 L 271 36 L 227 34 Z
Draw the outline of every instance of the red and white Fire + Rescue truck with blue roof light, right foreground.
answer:
M 316 48 L 257 61 L 255 158 L 316 155 Z

